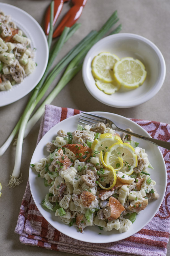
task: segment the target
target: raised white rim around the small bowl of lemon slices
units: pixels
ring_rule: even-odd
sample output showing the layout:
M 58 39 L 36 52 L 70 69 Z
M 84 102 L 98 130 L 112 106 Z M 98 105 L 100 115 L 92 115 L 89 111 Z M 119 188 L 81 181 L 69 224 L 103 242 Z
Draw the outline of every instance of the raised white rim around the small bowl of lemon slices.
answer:
M 130 101 L 128 104 L 118 104 L 117 102 L 114 102 L 114 99 L 112 100 L 113 103 L 107 102 L 107 99 L 105 97 L 101 97 L 99 95 L 95 94 L 95 89 L 93 90 L 92 86 L 90 86 L 90 83 L 88 81 L 87 78 L 87 73 L 88 73 L 88 60 L 90 59 L 93 50 L 100 45 L 102 42 L 105 42 L 107 40 L 109 40 L 109 38 L 136 38 L 138 40 L 140 40 L 141 42 L 145 42 L 147 43 L 155 52 L 156 54 L 159 56 L 159 61 L 161 63 L 161 70 L 162 72 L 160 73 L 160 78 L 156 83 L 156 86 L 153 88 L 152 94 L 149 95 L 144 95 L 143 98 L 140 99 L 140 103 L 138 102 L 132 102 Z M 166 75 L 166 63 L 165 63 L 165 59 L 163 57 L 162 52 L 160 51 L 160 49 L 149 39 L 145 38 L 144 36 L 138 35 L 138 34 L 133 34 L 133 33 L 118 33 L 118 34 L 113 34 L 113 35 L 109 35 L 106 36 L 104 38 L 102 38 L 101 40 L 99 40 L 97 43 L 95 43 L 92 48 L 90 48 L 90 50 L 88 51 L 88 53 L 86 54 L 84 61 L 83 61 L 83 66 L 82 66 L 82 78 L 83 78 L 83 82 L 84 85 L 86 86 L 86 89 L 88 90 L 88 92 L 98 101 L 100 101 L 101 103 L 111 106 L 111 107 L 115 107 L 115 108 L 132 108 L 138 105 L 141 105 L 145 102 L 147 102 L 148 100 L 150 100 L 151 98 L 153 98 L 161 89 L 163 82 L 165 80 L 165 75 Z M 99 90 L 99 89 L 98 89 Z M 106 95 L 104 95 L 106 96 Z M 107 95 L 108 96 L 108 95 Z

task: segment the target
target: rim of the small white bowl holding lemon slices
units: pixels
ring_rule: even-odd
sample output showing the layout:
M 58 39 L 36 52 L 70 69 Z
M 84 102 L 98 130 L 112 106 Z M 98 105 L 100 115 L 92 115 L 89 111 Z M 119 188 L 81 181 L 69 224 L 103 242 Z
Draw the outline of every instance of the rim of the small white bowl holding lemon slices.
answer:
M 139 98 L 138 99 L 133 99 L 133 101 L 129 101 L 127 103 L 127 102 L 119 102 L 119 101 L 116 101 L 116 99 L 114 99 L 113 104 L 109 104 L 108 102 L 106 102 L 106 100 L 103 100 L 102 98 L 99 99 L 96 96 L 95 92 L 92 90 L 92 88 L 90 86 L 88 86 L 89 81 L 88 81 L 87 75 L 86 75 L 87 63 L 88 63 L 88 59 L 92 55 L 94 49 L 97 48 L 97 46 L 99 46 L 103 42 L 106 43 L 106 42 L 110 41 L 111 39 L 117 39 L 117 38 L 118 39 L 124 38 L 125 40 L 127 40 L 127 39 L 133 40 L 134 39 L 134 40 L 138 40 L 138 41 L 140 41 L 142 43 L 145 43 L 146 45 L 150 46 L 150 48 L 152 48 L 152 50 L 158 56 L 159 64 L 160 64 L 160 70 L 159 70 L 159 74 L 158 74 L 158 79 L 156 80 L 156 83 L 154 84 L 154 87 L 151 88 L 149 94 L 145 94 L 145 95 L 141 96 L 140 100 L 139 100 Z M 83 67 L 82 67 L 82 76 L 83 76 L 84 84 L 86 85 L 86 88 L 92 94 L 92 96 L 94 96 L 94 98 L 96 98 L 97 100 L 99 100 L 100 102 L 102 102 L 104 104 L 107 104 L 107 105 L 113 106 L 113 107 L 119 107 L 119 108 L 134 107 L 134 106 L 137 106 L 139 104 L 142 104 L 142 103 L 150 100 L 153 96 L 155 96 L 158 93 L 158 91 L 162 87 L 163 82 L 165 80 L 165 75 L 166 75 L 166 65 L 165 65 L 165 60 L 164 60 L 164 57 L 163 57 L 160 49 L 154 43 L 152 43 L 150 40 L 148 40 L 147 38 L 145 38 L 143 36 L 139 36 L 137 34 L 131 34 L 131 33 L 114 34 L 114 35 L 110 35 L 110 36 L 107 36 L 107 37 L 101 39 L 94 46 L 92 46 L 92 48 L 88 51 L 88 53 L 87 53 L 87 55 L 84 59 Z

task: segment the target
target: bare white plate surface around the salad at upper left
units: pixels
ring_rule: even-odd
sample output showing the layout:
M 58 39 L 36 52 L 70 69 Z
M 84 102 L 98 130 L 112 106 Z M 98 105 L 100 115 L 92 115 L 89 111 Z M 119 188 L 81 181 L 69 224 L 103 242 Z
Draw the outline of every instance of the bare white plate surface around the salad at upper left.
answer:
M 33 59 L 37 66 L 33 73 L 25 77 L 20 84 L 13 85 L 10 90 L 0 91 L 2 107 L 23 98 L 38 84 L 48 63 L 48 43 L 41 26 L 31 15 L 6 3 L 0 3 L 0 9 L 5 15 L 10 15 L 16 26 L 31 40 L 31 48 L 37 49 Z

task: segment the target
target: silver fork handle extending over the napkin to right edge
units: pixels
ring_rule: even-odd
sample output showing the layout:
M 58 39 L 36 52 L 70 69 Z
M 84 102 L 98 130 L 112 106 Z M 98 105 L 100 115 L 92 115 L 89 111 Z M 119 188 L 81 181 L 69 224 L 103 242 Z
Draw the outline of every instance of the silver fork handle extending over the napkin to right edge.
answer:
M 120 129 L 120 128 L 116 128 L 116 131 L 120 131 L 120 132 L 126 133 L 128 135 L 133 135 L 134 137 L 143 139 L 145 141 L 150 141 L 153 144 L 156 144 L 157 146 L 160 146 L 160 147 L 163 147 L 163 148 L 166 148 L 166 149 L 170 150 L 170 142 L 160 141 L 160 140 L 153 139 L 153 138 L 150 138 L 150 137 L 145 137 L 143 135 L 139 135 L 137 133 L 132 133 L 130 131 L 126 131 L 126 130 L 123 130 L 123 129 Z

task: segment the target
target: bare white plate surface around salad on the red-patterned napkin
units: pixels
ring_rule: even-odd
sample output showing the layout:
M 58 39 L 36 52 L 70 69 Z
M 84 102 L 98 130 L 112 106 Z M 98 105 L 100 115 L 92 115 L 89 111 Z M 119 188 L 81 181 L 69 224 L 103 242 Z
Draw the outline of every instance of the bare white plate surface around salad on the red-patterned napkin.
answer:
M 126 117 L 107 113 L 107 112 L 90 112 L 95 113 L 97 115 L 101 115 L 107 117 L 111 120 L 114 120 L 115 123 L 122 129 L 126 129 L 130 127 L 135 133 L 139 133 L 144 136 L 150 137 L 150 135 L 138 124 L 133 121 L 127 119 Z M 57 131 L 63 129 L 65 132 L 75 131 L 77 129 L 77 124 L 79 120 L 80 114 L 65 119 L 52 127 L 45 135 L 42 137 L 41 141 L 38 143 L 35 151 L 33 153 L 31 164 L 39 161 L 39 159 L 48 156 L 48 152 L 46 151 L 46 143 L 52 141 L 57 136 Z M 148 206 L 145 210 L 141 211 L 135 222 L 130 226 L 129 230 L 124 233 L 119 233 L 117 230 L 111 230 L 108 232 L 104 232 L 103 230 L 99 230 L 97 226 L 91 226 L 84 228 L 84 234 L 81 234 L 75 226 L 69 227 L 68 225 L 63 224 L 58 217 L 54 216 L 55 212 L 51 212 L 42 207 L 41 202 L 44 199 L 46 193 L 48 193 L 49 187 L 44 186 L 44 179 L 41 179 L 37 176 L 37 172 L 34 168 L 29 169 L 29 185 L 31 189 L 31 194 L 33 196 L 33 200 L 41 212 L 42 216 L 57 230 L 62 232 L 63 234 L 75 238 L 77 240 L 81 240 L 89 243 L 109 243 L 113 241 L 118 241 L 125 239 L 139 230 L 141 230 L 156 214 L 158 209 L 161 206 L 163 201 L 163 197 L 165 195 L 166 189 L 166 168 L 165 162 L 160 152 L 160 149 L 147 141 L 142 139 L 135 138 L 136 141 L 139 142 L 139 146 L 145 148 L 146 153 L 148 154 L 148 158 L 154 170 L 149 169 L 149 173 L 151 174 L 151 179 L 156 181 L 156 190 L 160 195 L 159 199 L 153 200 L 148 203 Z M 160 171 L 161 170 L 161 171 Z M 99 235 L 101 232 L 101 235 Z

